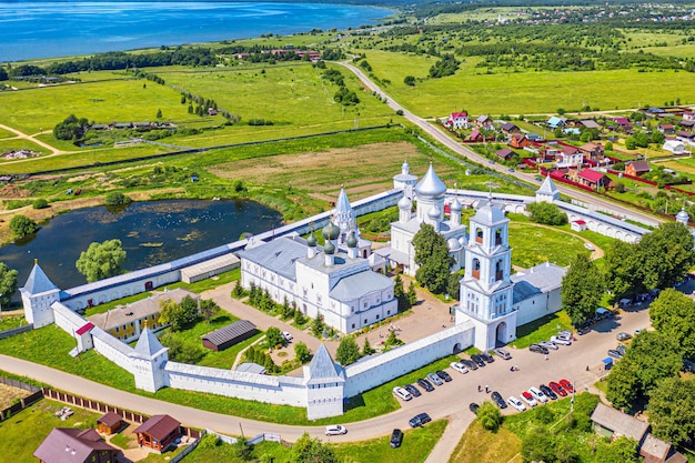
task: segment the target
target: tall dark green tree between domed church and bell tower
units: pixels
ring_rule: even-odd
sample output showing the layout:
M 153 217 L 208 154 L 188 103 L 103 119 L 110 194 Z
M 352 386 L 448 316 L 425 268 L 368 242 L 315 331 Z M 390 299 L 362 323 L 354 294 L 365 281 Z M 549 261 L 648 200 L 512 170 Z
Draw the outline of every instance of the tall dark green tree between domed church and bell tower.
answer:
M 452 264 L 444 236 L 425 223 L 415 233 L 412 243 L 415 248 L 415 263 L 419 265 L 415 280 L 433 293 L 444 292 Z

